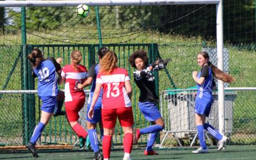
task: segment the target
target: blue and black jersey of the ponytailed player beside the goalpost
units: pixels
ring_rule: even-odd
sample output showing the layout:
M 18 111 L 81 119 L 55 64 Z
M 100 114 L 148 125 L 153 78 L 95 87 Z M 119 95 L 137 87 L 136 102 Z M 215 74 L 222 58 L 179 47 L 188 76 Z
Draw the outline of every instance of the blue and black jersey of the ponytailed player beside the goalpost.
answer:
M 212 97 L 212 87 L 214 85 L 214 79 L 212 76 L 212 69 L 208 65 L 204 66 L 202 70 L 197 75 L 198 79 L 200 77 L 205 77 L 203 84 L 196 84 L 197 87 L 197 93 L 196 97 L 202 98 L 202 97 Z

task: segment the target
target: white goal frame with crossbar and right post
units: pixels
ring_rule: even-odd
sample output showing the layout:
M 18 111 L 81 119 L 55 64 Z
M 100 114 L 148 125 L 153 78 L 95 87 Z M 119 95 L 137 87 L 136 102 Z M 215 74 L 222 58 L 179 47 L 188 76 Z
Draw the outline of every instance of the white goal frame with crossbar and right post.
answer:
M 0 7 L 33 6 L 131 6 L 131 5 L 177 5 L 177 4 L 216 4 L 216 39 L 218 68 L 223 70 L 223 0 L 86 0 L 86 1 L 0 1 Z M 218 80 L 219 129 L 225 134 L 224 83 Z

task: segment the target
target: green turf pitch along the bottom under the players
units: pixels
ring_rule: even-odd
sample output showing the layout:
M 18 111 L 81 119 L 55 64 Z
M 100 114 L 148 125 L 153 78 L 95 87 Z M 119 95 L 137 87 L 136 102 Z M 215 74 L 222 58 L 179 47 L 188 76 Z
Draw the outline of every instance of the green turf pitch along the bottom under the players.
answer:
M 210 149 L 208 154 L 193 154 L 191 151 L 195 148 L 164 148 L 156 149 L 158 156 L 143 156 L 143 148 L 132 150 L 132 159 L 256 159 L 256 146 L 227 146 L 226 150 L 218 151 Z M 46 152 L 40 150 L 37 159 L 93 159 L 93 152 Z M 124 156 L 123 150 L 113 150 L 111 159 L 122 159 Z M 19 154 L 0 154 L 0 159 L 35 159 L 28 152 Z

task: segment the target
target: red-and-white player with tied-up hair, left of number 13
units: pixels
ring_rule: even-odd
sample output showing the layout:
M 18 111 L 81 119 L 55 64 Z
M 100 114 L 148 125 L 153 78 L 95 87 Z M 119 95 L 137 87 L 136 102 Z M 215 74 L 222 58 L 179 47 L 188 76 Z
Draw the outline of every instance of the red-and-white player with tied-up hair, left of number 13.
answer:
M 65 81 L 65 109 L 68 122 L 79 138 L 86 139 L 87 132 L 78 122 L 78 113 L 84 106 L 85 93 L 83 88 L 77 89 L 77 84 L 83 83 L 87 77 L 86 67 L 79 65 L 81 60 L 81 51 L 72 51 L 71 64 L 63 67 L 61 77 Z

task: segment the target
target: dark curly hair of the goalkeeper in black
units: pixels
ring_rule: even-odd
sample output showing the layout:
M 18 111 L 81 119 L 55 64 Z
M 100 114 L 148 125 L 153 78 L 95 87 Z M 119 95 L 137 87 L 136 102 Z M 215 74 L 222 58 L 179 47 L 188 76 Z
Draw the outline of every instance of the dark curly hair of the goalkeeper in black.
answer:
M 134 67 L 134 68 L 136 68 L 136 65 L 135 65 L 136 58 L 141 58 L 141 60 L 143 60 L 143 62 L 144 62 L 144 65 L 145 66 L 148 65 L 148 52 L 143 51 L 143 50 L 132 52 L 132 54 L 129 57 L 128 61 L 131 64 L 131 66 Z

